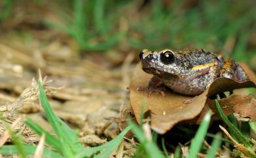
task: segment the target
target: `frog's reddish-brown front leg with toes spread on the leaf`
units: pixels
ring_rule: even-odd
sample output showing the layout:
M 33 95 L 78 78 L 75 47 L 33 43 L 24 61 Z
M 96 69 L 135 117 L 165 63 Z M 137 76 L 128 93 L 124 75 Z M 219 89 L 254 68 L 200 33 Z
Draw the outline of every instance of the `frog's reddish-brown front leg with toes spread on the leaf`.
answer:
M 158 92 L 162 96 L 165 96 L 164 88 L 158 87 L 163 82 L 156 76 L 153 76 L 152 79 L 150 79 L 150 82 L 148 83 L 148 87 L 137 87 L 137 90 L 139 91 L 147 91 L 148 92 L 148 98 L 150 98 L 151 94 L 153 92 Z

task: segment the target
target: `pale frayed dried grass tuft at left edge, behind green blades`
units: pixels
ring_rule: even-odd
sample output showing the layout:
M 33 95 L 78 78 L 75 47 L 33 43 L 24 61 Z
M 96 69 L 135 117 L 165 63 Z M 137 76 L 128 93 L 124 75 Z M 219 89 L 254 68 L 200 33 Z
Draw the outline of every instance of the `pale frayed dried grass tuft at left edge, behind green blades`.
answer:
M 56 89 L 53 87 L 47 87 L 47 84 L 51 81 L 47 81 L 46 77 L 43 79 L 43 86 L 47 94 L 53 94 Z M 18 109 L 21 109 L 26 104 L 34 104 L 38 100 L 39 88 L 37 81 L 32 79 L 32 85 L 25 89 L 22 94 L 12 104 L 0 106 L 0 112 L 2 113 L 2 119 L 0 120 L 0 135 L 4 136 L 7 127 L 11 125 L 12 130 L 17 134 L 25 136 L 26 143 L 38 142 L 39 137 L 26 127 L 24 120 L 17 115 Z M 16 122 L 18 120 L 18 122 Z M 7 140 L 10 142 L 10 139 Z

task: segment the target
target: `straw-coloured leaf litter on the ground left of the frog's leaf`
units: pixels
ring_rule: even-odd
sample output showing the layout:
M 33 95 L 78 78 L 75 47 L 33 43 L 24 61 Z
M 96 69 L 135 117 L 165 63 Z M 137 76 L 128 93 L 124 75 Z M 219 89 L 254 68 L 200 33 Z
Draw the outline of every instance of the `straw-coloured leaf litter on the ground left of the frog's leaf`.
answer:
M 53 38 L 51 31 L 47 33 Z M 121 115 L 121 107 L 129 104 L 127 85 L 134 56 L 122 57 L 123 65 L 112 70 L 112 63 L 98 64 L 98 58 L 105 58 L 102 54 L 94 54 L 95 58 L 88 54 L 89 58 L 81 58 L 61 40 L 46 42 L 43 47 L 39 44 L 41 41 L 35 37 L 28 42 L 15 33 L 1 35 L 0 112 L 4 113 L 1 121 L 11 125 L 21 117 L 22 121 L 14 131 L 18 131 L 19 136 L 24 135 L 24 141 L 29 144 L 37 143 L 39 136 L 24 125 L 24 116 L 52 131 L 38 103 L 37 82 L 33 80 L 31 83 L 40 68 L 43 74 L 47 74 L 47 79 L 53 81 L 46 81 L 44 89 L 54 113 L 71 127 L 79 128 L 79 137 L 85 146 L 98 146 L 106 142 L 105 138 L 115 138 L 125 128 L 125 123 L 120 127 L 116 120 Z M 116 64 L 116 61 L 112 62 Z M 119 121 L 125 122 L 125 119 Z M 5 129 L 1 122 L 0 137 Z

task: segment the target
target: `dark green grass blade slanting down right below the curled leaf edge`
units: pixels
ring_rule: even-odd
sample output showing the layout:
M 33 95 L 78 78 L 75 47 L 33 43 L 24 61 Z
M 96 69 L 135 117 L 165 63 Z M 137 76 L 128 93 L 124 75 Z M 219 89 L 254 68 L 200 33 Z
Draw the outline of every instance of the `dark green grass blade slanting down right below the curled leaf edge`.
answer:
M 238 139 L 238 142 L 244 144 L 245 147 L 250 147 L 249 142 L 246 140 L 245 136 L 238 130 L 238 128 L 234 127 L 234 125 L 228 120 L 228 117 L 224 115 L 223 110 L 221 109 L 221 106 L 219 105 L 218 100 L 215 100 L 217 109 L 219 111 L 219 115 L 221 115 L 221 119 L 223 119 L 224 123 L 228 126 L 228 129 L 236 136 Z

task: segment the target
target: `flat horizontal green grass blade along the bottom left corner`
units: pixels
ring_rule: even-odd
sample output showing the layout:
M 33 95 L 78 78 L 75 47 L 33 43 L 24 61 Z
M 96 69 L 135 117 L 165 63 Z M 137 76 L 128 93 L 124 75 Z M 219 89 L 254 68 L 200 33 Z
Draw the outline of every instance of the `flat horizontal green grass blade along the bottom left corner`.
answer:
M 33 155 L 35 153 L 36 146 L 32 145 L 24 145 L 24 151 L 26 155 Z M 20 151 L 16 146 L 10 145 L 10 146 L 3 146 L 0 148 L 0 153 L 2 154 L 20 154 Z M 44 157 L 54 157 L 54 158 L 64 158 L 60 154 L 48 149 L 44 148 L 43 150 L 43 156 Z

